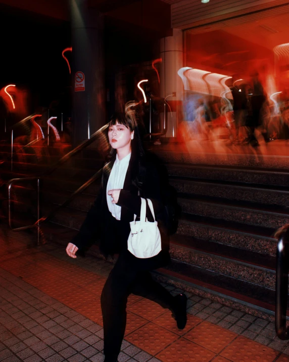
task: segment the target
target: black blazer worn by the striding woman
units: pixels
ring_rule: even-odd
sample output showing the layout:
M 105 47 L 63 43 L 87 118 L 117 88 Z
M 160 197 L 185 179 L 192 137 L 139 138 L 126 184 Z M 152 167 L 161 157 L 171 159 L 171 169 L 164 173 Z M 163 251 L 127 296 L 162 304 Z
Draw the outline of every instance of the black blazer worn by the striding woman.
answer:
M 152 163 L 147 163 L 146 176 L 143 180 L 139 196 L 138 188 L 132 183 L 132 180 L 135 179 L 136 173 L 138 172 L 138 159 L 133 156 L 133 154 L 130 158 L 123 189 L 120 192 L 117 203 L 117 205 L 121 206 L 121 221 L 118 223 L 125 226 L 122 228 L 122 236 L 124 243 L 126 243 L 130 232 L 129 222 L 133 221 L 134 214 L 136 214 L 137 217 L 140 215 L 140 197 L 150 198 L 154 206 L 155 216 L 161 233 L 162 251 L 153 258 L 139 259 L 128 252 L 127 244 L 124 248 L 125 250 L 118 249 L 119 240 L 116 240 L 113 228 L 116 220 L 108 209 L 106 197 L 107 183 L 114 162 L 115 158 L 103 168 L 102 185 L 99 194 L 91 209 L 88 211 L 79 232 L 71 243 L 76 245 L 79 250 L 82 250 L 91 245 L 91 240 L 99 239 L 100 250 L 106 257 L 108 255 L 121 253 L 127 259 L 127 262 L 133 263 L 136 268 L 153 270 L 169 264 L 169 235 L 163 222 L 164 206 L 161 201 L 159 174 Z M 153 221 L 152 214 L 148 208 L 147 218 L 148 221 Z

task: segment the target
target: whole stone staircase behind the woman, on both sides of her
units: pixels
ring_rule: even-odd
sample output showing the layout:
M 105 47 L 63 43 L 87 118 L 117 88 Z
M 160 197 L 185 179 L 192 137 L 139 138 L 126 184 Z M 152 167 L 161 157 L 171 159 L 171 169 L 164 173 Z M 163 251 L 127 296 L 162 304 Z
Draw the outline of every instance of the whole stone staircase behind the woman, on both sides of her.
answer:
M 171 156 L 171 157 L 170 157 Z M 154 272 L 188 292 L 272 320 L 274 315 L 274 232 L 289 221 L 289 173 L 253 169 L 251 165 L 204 165 L 166 153 L 170 183 L 178 192 L 182 215 L 171 237 L 172 263 Z M 165 158 L 165 157 L 164 157 Z M 190 162 L 188 162 L 190 161 Z M 42 212 L 60 205 L 89 175 L 100 159 L 84 150 L 60 178 L 45 180 Z M 64 175 L 68 178 L 63 182 Z M 99 183 L 90 185 L 42 229 L 47 241 L 64 246 L 82 224 Z M 25 192 L 20 190 L 25 204 Z M 90 253 L 100 255 L 98 246 Z

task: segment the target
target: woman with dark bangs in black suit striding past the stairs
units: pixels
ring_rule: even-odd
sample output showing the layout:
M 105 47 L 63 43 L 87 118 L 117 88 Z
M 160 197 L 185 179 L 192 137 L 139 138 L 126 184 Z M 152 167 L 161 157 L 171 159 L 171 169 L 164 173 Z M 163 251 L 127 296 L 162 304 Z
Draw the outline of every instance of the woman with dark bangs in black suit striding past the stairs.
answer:
M 173 297 L 149 273 L 170 262 L 169 238 L 162 223 L 164 207 L 159 176 L 154 166 L 146 162 L 132 112 L 118 113 L 111 118 L 108 138 L 109 162 L 103 168 L 100 193 L 66 252 L 76 258 L 76 251 L 87 247 L 98 235 L 100 250 L 105 256 L 119 254 L 101 296 L 105 362 L 117 362 L 126 326 L 127 297 L 136 286 L 146 286 L 157 294 L 174 312 L 180 329 L 186 324 L 186 296 Z M 162 237 L 162 251 L 149 259 L 138 259 L 127 250 L 129 222 L 134 214 L 139 219 L 140 196 L 152 200 Z M 153 221 L 148 209 L 148 221 Z

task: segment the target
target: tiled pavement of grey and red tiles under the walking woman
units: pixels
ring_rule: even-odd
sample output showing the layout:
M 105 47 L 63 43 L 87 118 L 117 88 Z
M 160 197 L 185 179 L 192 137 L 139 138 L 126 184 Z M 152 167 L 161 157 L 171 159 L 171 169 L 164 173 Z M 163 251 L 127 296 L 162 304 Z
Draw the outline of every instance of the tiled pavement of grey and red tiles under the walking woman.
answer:
M 4 227 L 0 238 L 0 361 L 102 362 L 100 295 L 112 265 L 70 259 L 57 245 L 27 248 L 29 234 Z M 288 342 L 276 338 L 273 323 L 188 297 L 188 323 L 179 331 L 167 309 L 131 295 L 119 361 L 289 362 Z

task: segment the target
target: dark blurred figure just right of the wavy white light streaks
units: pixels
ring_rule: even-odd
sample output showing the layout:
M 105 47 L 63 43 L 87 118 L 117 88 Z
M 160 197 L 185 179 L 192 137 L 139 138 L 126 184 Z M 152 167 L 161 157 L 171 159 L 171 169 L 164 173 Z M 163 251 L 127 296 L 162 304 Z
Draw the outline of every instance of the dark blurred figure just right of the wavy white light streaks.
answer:
M 232 76 L 232 96 L 233 96 L 233 113 L 235 120 L 235 143 L 240 143 L 239 129 L 245 126 L 247 116 L 247 97 L 246 97 L 246 85 L 242 83 L 243 79 L 240 79 L 239 74 Z

